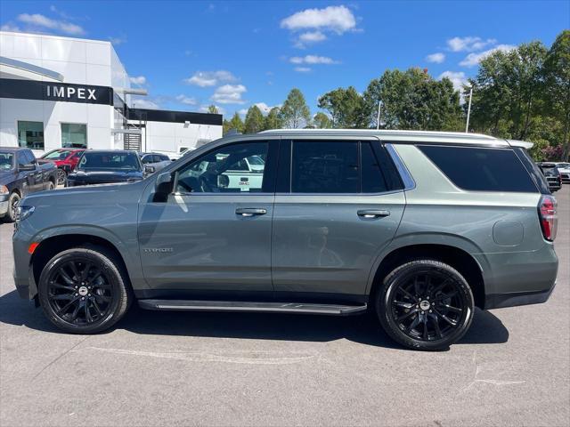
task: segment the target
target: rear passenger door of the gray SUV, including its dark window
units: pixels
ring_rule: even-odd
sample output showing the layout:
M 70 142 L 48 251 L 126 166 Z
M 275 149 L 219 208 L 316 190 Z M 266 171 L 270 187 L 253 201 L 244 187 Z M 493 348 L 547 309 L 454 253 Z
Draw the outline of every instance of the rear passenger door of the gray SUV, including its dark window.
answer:
M 277 296 L 362 297 L 405 205 L 387 151 L 367 139 L 281 146 L 272 246 Z

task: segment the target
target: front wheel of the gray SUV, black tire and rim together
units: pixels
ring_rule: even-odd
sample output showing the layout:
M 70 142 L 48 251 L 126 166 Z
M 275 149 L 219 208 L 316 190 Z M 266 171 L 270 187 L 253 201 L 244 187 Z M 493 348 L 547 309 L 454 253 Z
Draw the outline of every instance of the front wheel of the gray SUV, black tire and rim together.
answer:
M 109 329 L 125 316 L 133 299 L 120 262 L 101 246 L 56 254 L 42 270 L 38 294 L 45 316 L 71 334 Z

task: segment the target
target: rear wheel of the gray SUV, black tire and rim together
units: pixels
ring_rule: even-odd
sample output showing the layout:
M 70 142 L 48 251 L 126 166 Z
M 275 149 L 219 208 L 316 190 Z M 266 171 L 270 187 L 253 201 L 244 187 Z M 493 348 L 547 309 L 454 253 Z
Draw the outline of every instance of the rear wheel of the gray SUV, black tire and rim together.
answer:
M 414 350 L 448 349 L 468 331 L 475 310 L 465 278 L 434 260 L 406 262 L 393 270 L 375 304 L 386 333 Z

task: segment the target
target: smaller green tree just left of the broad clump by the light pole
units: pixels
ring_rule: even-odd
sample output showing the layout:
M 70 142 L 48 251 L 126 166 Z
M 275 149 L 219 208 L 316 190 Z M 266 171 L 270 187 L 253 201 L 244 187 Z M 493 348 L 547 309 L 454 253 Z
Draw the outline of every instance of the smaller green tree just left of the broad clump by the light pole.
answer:
M 353 86 L 347 89 L 339 87 L 325 93 L 319 98 L 319 108 L 330 112 L 332 127 L 345 129 L 368 127 L 364 100 Z

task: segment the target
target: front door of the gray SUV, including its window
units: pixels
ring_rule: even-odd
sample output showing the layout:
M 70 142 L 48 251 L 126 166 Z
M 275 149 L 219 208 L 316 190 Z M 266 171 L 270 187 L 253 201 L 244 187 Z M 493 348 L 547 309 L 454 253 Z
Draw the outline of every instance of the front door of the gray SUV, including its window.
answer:
M 279 141 L 212 149 L 175 171 L 175 189 L 166 202 L 141 205 L 139 243 L 149 286 L 217 293 L 273 291 L 273 144 Z M 263 165 L 240 171 L 244 160 L 254 156 Z

